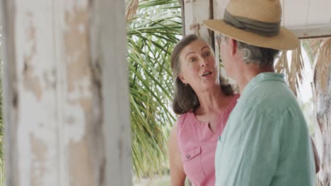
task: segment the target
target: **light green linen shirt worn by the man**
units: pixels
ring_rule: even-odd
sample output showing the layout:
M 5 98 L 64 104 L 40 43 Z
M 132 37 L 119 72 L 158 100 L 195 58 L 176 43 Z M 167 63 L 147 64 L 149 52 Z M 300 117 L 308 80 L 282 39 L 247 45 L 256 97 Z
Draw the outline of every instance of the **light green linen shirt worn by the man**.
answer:
M 306 120 L 284 75 L 248 82 L 219 137 L 215 168 L 216 186 L 315 184 Z

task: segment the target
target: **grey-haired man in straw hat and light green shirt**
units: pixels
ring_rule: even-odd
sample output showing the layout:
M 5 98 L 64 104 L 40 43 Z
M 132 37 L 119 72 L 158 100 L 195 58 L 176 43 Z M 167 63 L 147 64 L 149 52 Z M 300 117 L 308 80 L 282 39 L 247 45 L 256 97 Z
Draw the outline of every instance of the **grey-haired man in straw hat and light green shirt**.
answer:
M 315 185 L 313 149 L 305 118 L 284 81 L 274 73 L 279 50 L 298 38 L 280 26 L 279 0 L 233 0 L 223 20 L 204 20 L 216 39 L 240 99 L 219 137 L 216 185 Z

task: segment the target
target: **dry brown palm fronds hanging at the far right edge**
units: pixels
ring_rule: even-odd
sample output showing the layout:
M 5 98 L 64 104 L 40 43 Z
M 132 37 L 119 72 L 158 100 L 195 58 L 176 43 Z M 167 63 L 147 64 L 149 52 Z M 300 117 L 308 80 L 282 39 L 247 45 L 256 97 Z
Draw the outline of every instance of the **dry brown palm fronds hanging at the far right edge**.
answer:
M 331 118 L 331 38 L 310 42 L 316 44 L 313 65 L 313 98 L 316 121 L 318 123 L 318 138 L 320 139 L 320 185 L 329 185 L 330 176 L 330 118 Z

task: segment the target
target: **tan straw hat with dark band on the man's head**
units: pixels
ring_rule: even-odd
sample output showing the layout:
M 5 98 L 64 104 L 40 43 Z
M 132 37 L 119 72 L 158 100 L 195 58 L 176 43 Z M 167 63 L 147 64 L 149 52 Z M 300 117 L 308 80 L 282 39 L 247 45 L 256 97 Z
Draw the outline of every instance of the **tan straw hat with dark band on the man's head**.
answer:
M 299 46 L 298 38 L 280 26 L 279 0 L 232 0 L 223 20 L 204 20 L 202 23 L 221 35 L 255 46 L 278 50 Z

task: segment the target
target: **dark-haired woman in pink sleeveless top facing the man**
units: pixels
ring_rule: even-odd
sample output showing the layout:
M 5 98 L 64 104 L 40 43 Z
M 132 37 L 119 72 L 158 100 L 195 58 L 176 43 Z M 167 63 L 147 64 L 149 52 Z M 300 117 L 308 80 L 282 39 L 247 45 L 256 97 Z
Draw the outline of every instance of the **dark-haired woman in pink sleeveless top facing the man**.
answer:
M 173 111 L 179 118 L 169 140 L 171 185 L 215 185 L 216 144 L 236 105 L 233 94 L 219 75 L 211 46 L 196 35 L 178 42 L 170 58 L 175 81 Z

